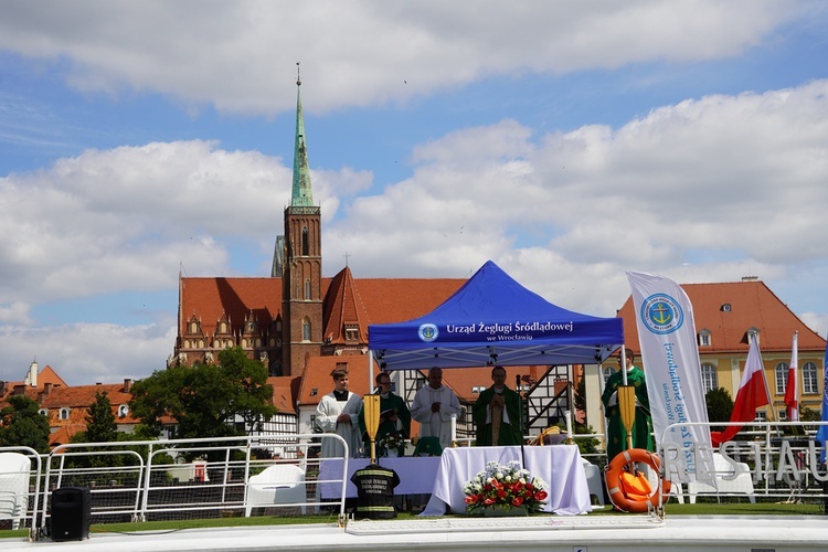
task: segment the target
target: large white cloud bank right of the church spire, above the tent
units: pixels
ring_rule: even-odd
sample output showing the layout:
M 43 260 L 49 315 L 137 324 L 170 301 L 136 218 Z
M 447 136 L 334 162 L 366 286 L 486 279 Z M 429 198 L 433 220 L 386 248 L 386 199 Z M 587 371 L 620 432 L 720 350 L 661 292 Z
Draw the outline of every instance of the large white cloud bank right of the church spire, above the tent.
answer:
M 537 142 L 508 120 L 455 131 L 415 149 L 410 179 L 357 199 L 326 251 L 349 251 L 363 276 L 463 277 L 491 258 L 601 315 L 628 295 L 628 269 L 687 283 L 757 274 L 773 287 L 828 256 L 827 98 L 818 81 Z

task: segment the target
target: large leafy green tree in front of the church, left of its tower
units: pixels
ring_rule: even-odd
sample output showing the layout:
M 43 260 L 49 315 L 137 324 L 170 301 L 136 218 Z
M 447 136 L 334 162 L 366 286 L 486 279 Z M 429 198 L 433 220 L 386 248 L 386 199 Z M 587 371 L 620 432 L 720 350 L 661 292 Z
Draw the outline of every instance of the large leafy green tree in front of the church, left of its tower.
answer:
M 245 435 L 272 417 L 272 396 L 267 369 L 233 347 L 219 353 L 216 364 L 172 367 L 136 382 L 129 408 L 156 436 L 171 416 L 178 422 L 177 438 L 226 437 Z M 244 428 L 236 427 L 237 417 Z

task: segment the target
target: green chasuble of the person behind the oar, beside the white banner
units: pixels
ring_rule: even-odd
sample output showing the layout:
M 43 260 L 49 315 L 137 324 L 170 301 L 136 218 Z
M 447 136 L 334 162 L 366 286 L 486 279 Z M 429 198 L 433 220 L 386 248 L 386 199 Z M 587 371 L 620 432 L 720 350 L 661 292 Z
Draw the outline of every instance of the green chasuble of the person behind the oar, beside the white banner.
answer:
M 652 444 L 652 418 L 650 417 L 650 401 L 647 396 L 647 382 L 644 371 L 640 368 L 633 367 L 627 372 L 627 384 L 636 388 L 636 418 L 633 425 L 633 448 L 644 448 L 645 450 L 655 450 Z M 606 382 L 604 394 L 601 396 L 604 403 L 604 415 L 607 417 L 606 424 L 606 456 L 607 461 L 618 453 L 627 449 L 627 432 L 620 418 L 620 408 L 618 407 L 617 395 L 615 404 L 608 406 L 613 393 L 619 385 L 624 385 L 624 375 L 620 371 L 615 372 Z

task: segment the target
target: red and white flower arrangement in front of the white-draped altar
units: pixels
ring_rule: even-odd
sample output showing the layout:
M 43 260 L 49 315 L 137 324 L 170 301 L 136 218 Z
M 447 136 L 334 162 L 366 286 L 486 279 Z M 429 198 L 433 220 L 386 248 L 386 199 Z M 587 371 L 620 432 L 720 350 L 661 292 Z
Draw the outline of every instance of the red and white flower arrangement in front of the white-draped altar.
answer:
M 485 470 L 466 481 L 463 492 L 466 493 L 467 513 L 482 513 L 487 508 L 521 508 L 527 512 L 538 512 L 549 496 L 543 479 L 532 477 L 519 461 L 506 466 L 488 463 Z

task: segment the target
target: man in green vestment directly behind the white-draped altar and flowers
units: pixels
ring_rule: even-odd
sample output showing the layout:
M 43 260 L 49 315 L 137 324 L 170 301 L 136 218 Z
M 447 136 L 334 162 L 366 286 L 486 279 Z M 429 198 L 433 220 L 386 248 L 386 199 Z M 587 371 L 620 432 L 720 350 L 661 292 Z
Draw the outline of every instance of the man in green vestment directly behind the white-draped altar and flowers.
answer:
M 491 369 L 493 384 L 480 393 L 471 408 L 477 431 L 476 446 L 520 445 L 523 407 L 520 395 L 506 386 L 506 369 Z

